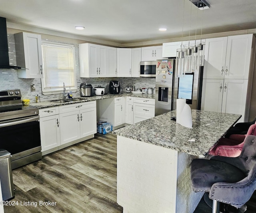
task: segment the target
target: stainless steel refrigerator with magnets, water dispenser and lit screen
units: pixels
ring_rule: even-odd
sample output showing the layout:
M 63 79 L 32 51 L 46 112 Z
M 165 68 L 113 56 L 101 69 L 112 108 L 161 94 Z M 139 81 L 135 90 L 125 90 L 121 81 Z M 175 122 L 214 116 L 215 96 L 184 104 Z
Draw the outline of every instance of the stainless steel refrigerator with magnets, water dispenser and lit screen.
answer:
M 186 99 L 191 109 L 201 109 L 202 71 L 175 78 L 175 60 L 156 61 L 155 115 L 176 109 L 177 98 Z

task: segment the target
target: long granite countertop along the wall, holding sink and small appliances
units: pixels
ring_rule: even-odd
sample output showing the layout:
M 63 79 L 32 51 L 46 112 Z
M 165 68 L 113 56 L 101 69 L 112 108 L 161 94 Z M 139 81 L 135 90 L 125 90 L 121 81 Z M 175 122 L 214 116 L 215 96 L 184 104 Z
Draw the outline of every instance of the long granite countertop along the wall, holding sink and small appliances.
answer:
M 114 95 L 107 94 L 107 95 L 104 95 L 104 96 L 92 96 L 92 97 L 73 97 L 73 98 L 82 98 L 83 100 L 72 101 L 72 102 L 65 102 L 65 103 L 56 103 L 56 102 L 53 102 L 54 100 L 42 101 L 40 103 L 31 103 L 30 102 L 30 106 L 35 106 L 35 107 L 38 107 L 39 109 L 42 109 L 42 108 L 47 108 L 47 107 L 61 106 L 61 105 L 67 105 L 67 104 L 83 103 L 83 102 L 88 102 L 88 101 L 96 101 L 96 100 L 102 100 L 102 99 L 107 99 L 107 98 L 116 98 L 116 97 L 122 97 L 122 96 L 131 96 L 131 97 L 138 97 L 138 98 L 151 98 L 151 99 L 155 99 L 154 94 L 153 95 L 145 95 L 145 94 L 134 95 L 132 93 L 124 93 L 124 94 L 114 94 Z

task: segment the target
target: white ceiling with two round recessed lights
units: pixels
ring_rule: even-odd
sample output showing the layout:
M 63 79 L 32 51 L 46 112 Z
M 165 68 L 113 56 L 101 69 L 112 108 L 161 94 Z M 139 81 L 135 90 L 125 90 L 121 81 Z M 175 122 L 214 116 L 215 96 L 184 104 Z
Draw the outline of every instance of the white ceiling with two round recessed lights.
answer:
M 11 24 L 117 44 L 200 35 L 201 28 L 202 34 L 256 29 L 256 0 L 206 1 L 210 9 L 202 11 L 189 0 L 8 0 L 1 2 L 0 16 Z M 167 31 L 158 31 L 162 27 Z

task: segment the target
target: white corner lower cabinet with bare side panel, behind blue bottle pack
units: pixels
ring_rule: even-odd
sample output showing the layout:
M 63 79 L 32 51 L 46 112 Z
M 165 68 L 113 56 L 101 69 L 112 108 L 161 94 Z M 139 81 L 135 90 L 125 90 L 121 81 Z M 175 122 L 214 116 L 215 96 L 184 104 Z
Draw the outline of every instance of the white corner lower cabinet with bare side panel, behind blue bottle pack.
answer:
M 125 98 L 108 98 L 97 101 L 97 120 L 112 123 L 113 127 L 125 123 Z M 114 128 L 113 128 L 114 129 Z

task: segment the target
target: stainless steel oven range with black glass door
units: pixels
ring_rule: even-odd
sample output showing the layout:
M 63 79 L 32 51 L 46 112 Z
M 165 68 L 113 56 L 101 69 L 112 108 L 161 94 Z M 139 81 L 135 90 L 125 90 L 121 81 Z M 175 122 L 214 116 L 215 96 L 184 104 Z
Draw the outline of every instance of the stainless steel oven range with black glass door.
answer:
M 0 149 L 12 155 L 12 169 L 42 159 L 39 109 L 22 105 L 20 90 L 0 91 Z

